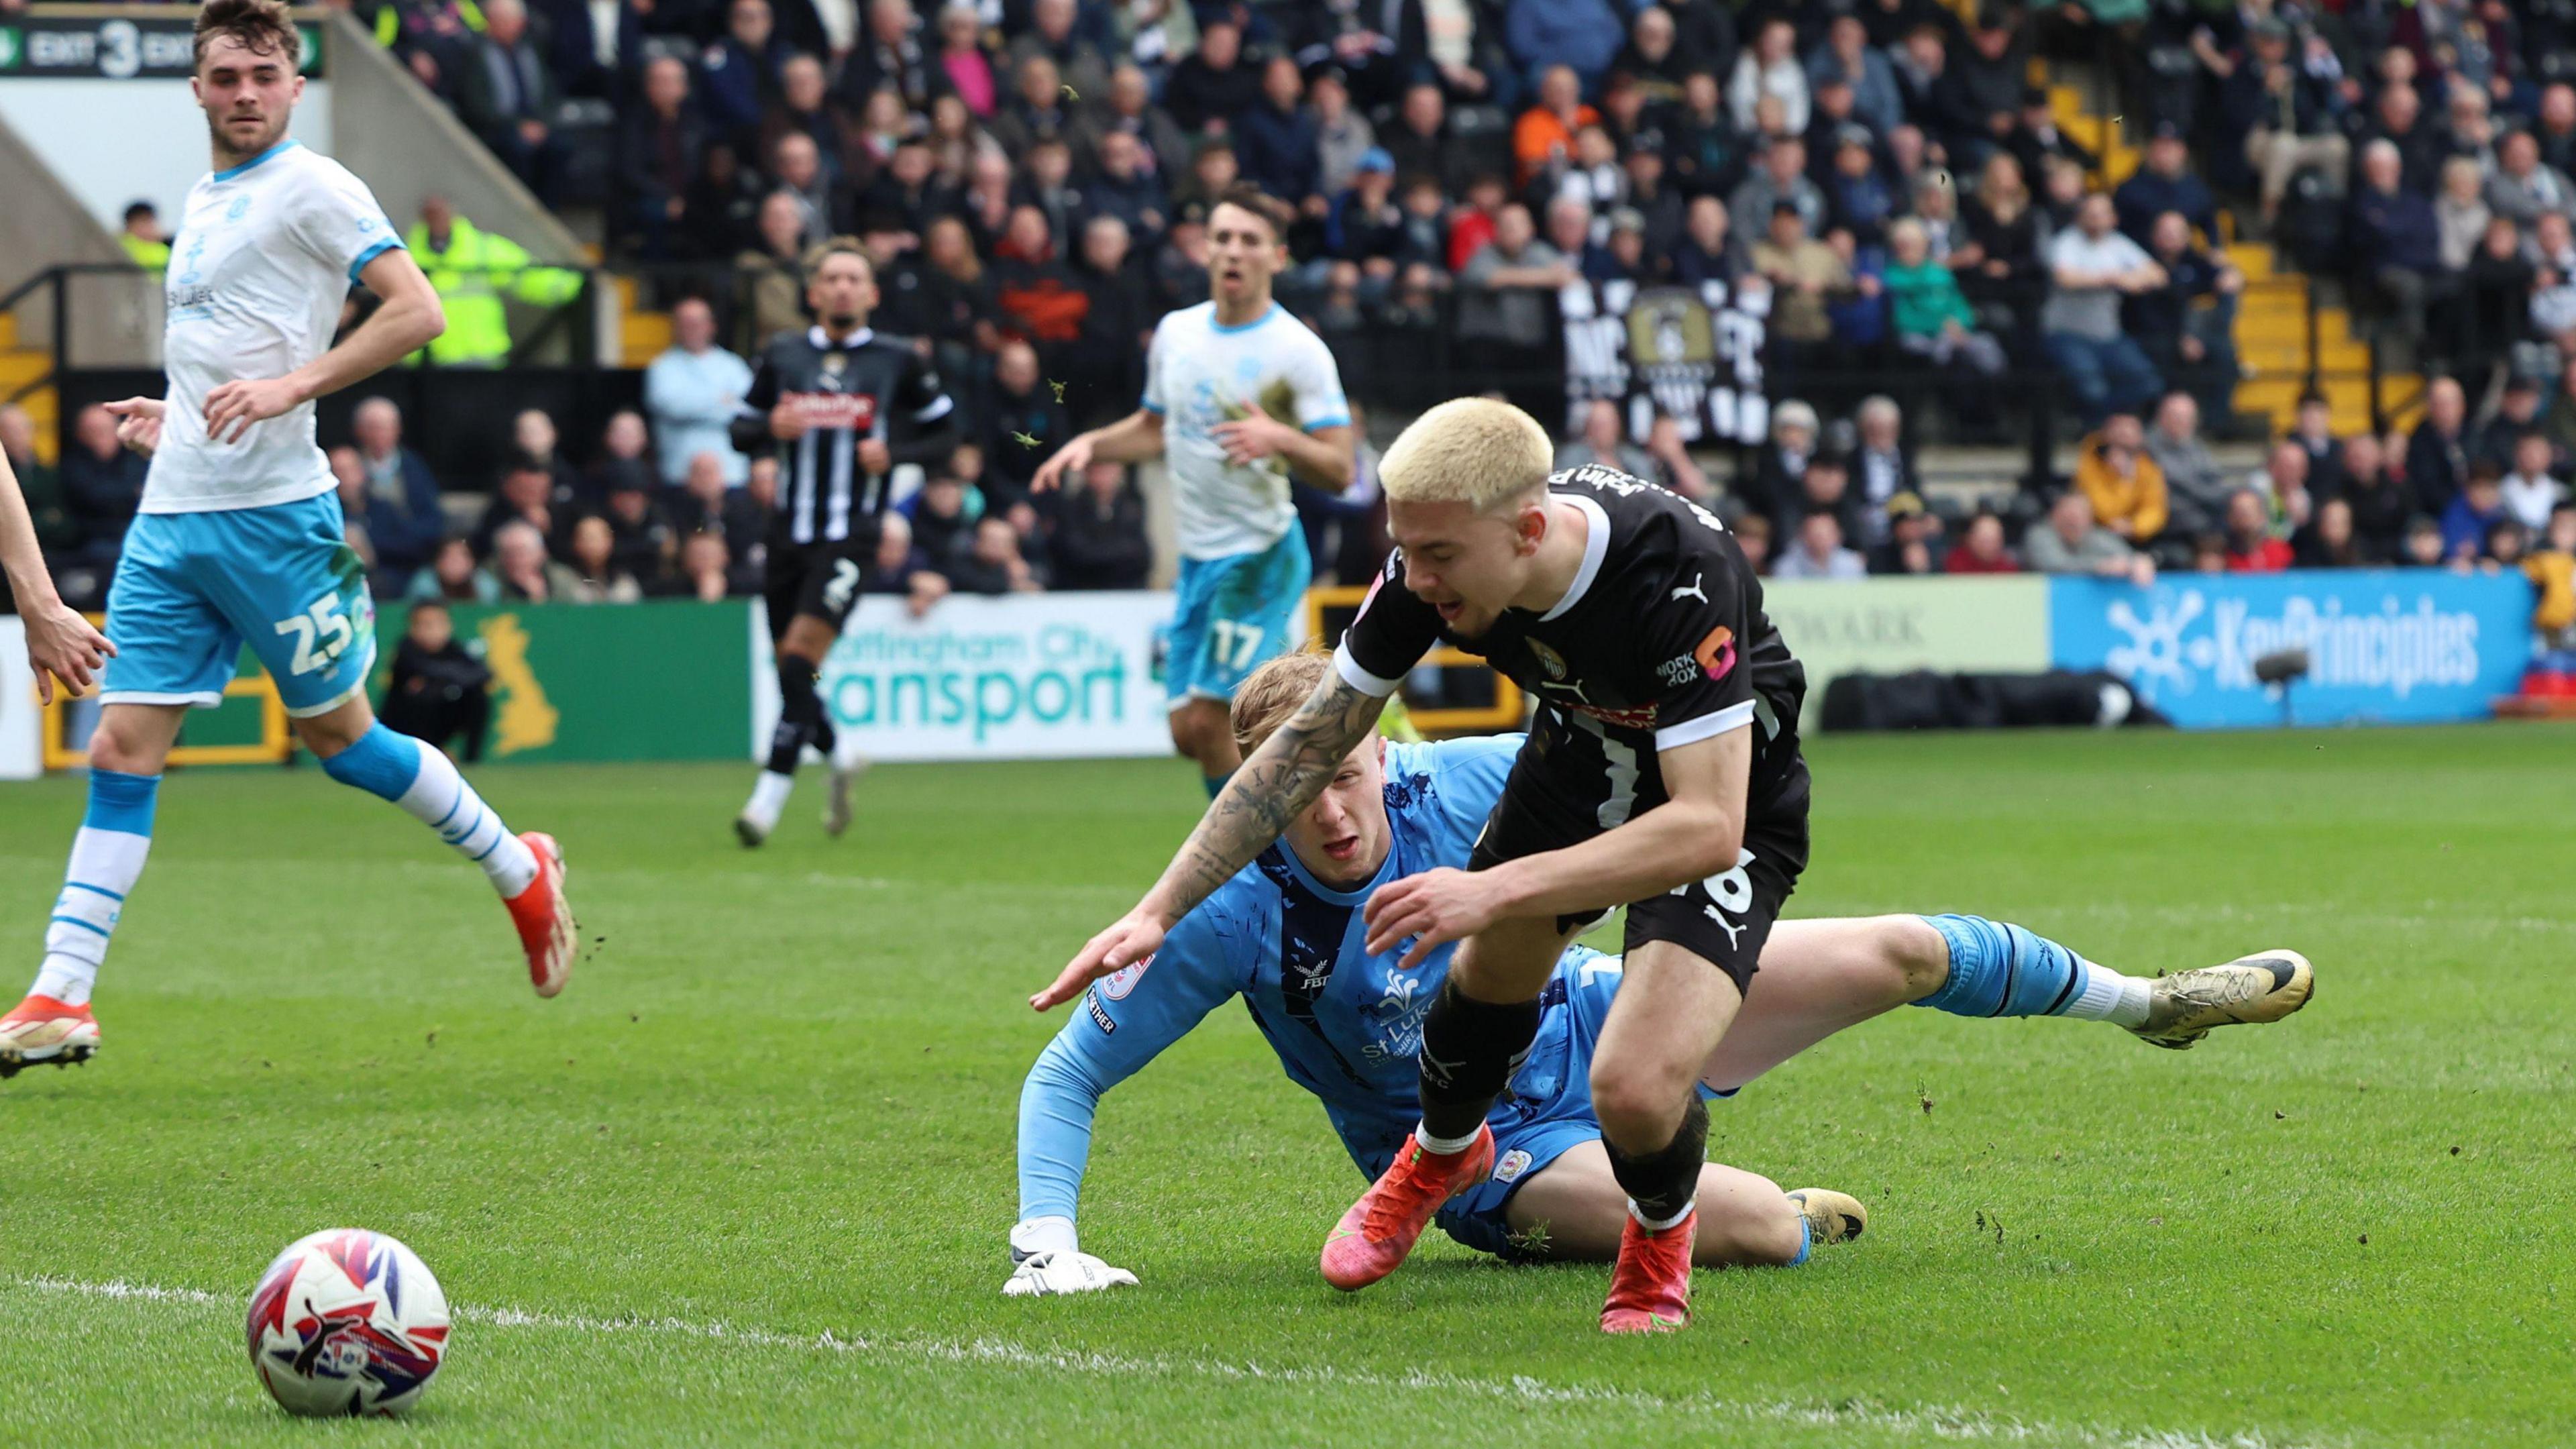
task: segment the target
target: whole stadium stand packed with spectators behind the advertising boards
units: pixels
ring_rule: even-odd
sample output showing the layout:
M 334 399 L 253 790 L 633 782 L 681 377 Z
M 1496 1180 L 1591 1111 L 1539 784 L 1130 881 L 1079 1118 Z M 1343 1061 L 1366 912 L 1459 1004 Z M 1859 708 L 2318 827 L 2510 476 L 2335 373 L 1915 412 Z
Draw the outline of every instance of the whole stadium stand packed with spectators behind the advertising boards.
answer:
M 2336 567 L 2411 559 L 2416 534 L 2437 539 L 2421 562 L 2463 570 L 2566 549 L 2563 8 L 358 0 L 350 15 L 598 263 L 536 266 L 435 196 L 397 217 L 438 263 L 451 338 L 433 366 L 358 389 L 440 418 L 425 456 L 389 467 L 361 443 L 345 477 L 389 593 L 757 590 L 762 482 L 719 415 L 742 358 L 801 325 L 793 258 L 827 235 L 866 240 L 878 322 L 920 338 L 969 418 L 971 446 L 904 503 L 896 588 L 1133 583 L 1139 480 L 1030 500 L 1043 454 L 1012 438 L 1128 405 L 1154 320 L 1203 297 L 1206 206 L 1236 178 L 1296 206 L 1283 297 L 1355 397 L 1404 415 L 1510 394 L 1561 418 L 1571 454 L 1762 518 L 1788 572 Z M 149 209 L 129 217 L 142 266 L 162 242 Z M 1726 436 L 1698 394 L 1582 389 L 1577 322 L 1615 333 L 1656 286 L 1728 297 L 1708 317 L 1757 338 L 1741 400 L 1777 428 L 1747 407 Z M 580 320 L 595 289 L 608 327 Z M 1579 291 L 1589 312 L 1566 302 Z M 528 358 L 574 366 L 474 376 Z M 26 402 L 0 413 L 0 446 L 57 567 L 103 588 L 116 482 L 62 410 L 85 397 L 44 387 L 46 369 L 0 333 L 0 387 Z M 1048 400 L 1041 379 L 1074 392 Z M 335 400 L 325 441 L 358 441 L 361 410 Z M 528 456 L 513 436 L 528 410 L 569 462 Z M 435 531 L 425 480 L 446 490 Z M 484 518 L 487 490 L 533 526 L 541 567 L 526 531 Z M 1350 495 L 1301 490 L 1324 575 L 1373 565 L 1370 500 L 1365 467 Z

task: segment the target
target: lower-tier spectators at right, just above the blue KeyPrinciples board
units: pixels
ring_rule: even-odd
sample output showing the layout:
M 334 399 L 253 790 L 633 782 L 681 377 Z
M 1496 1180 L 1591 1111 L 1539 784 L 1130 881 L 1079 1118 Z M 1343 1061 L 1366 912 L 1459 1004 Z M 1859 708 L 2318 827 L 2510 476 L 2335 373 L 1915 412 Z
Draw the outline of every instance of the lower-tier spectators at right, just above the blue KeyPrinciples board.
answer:
M 2576 559 L 2576 500 L 2561 482 L 2576 443 L 2576 369 L 2550 407 L 2517 379 L 2494 418 L 2465 415 L 2460 384 L 2437 379 L 2416 428 L 2334 438 L 2331 407 L 2308 394 L 2290 436 L 2236 474 L 2210 454 L 2200 402 L 2177 387 L 2146 418 L 2107 415 L 2081 441 L 2069 487 L 1960 511 L 1922 487 L 1891 397 L 1862 400 L 1829 431 L 1790 400 L 1721 505 L 1767 578 L 2030 570 L 2154 583 L 2159 570 L 2447 567 L 2519 570 L 2548 593 Z M 1654 477 L 1659 464 L 1620 467 Z M 2555 632 L 2571 624 L 2576 608 Z

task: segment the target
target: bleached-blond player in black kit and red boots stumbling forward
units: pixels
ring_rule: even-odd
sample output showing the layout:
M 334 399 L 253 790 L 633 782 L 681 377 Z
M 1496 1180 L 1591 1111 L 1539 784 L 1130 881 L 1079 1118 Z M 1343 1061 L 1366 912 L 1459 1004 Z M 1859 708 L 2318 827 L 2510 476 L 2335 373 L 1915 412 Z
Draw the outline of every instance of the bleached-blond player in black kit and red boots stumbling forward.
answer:
M 1481 1176 L 1486 1114 L 1538 1034 L 1564 946 L 1625 905 L 1623 985 L 1592 1057 L 1592 1109 L 1628 1196 L 1602 1330 L 1651 1333 L 1690 1320 L 1708 1140 L 1695 1083 L 1806 866 L 1806 676 L 1716 516 L 1605 467 L 1551 477 L 1551 459 L 1546 428 L 1504 402 L 1443 402 L 1396 438 L 1378 472 L 1399 547 L 1334 676 L 1051 990 L 1159 949 L 1324 792 L 1432 645 L 1486 657 L 1540 709 L 1468 869 L 1368 900 L 1365 946 L 1412 938 L 1401 967 L 1466 946 L 1422 1021 L 1414 1147 L 1342 1214 L 1324 1276 L 1345 1289 L 1383 1279 Z M 2262 982 L 2233 1003 L 2239 1018 L 2308 998 L 2306 964 Z

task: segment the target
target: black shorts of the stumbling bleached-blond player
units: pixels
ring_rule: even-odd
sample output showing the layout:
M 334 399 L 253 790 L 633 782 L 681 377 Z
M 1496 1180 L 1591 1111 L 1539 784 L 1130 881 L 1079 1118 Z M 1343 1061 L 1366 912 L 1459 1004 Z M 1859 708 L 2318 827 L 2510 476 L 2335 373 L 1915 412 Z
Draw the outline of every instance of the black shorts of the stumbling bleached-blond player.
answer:
M 1533 732 L 1530 745 L 1512 761 L 1512 779 L 1504 781 L 1494 815 L 1476 835 L 1466 869 L 1484 871 L 1520 856 L 1561 851 L 1605 830 L 1597 766 L 1587 768 L 1577 750 L 1533 748 L 1538 743 L 1540 735 Z M 1736 866 L 1667 895 L 1628 902 L 1625 951 L 1646 941 L 1672 941 L 1716 962 L 1739 993 L 1754 980 L 1762 944 L 1770 941 L 1780 908 L 1788 905 L 1790 892 L 1798 890 L 1798 874 L 1806 871 L 1806 761 L 1788 750 L 1785 763 L 1765 773 L 1770 779 L 1754 781 L 1759 802 L 1747 812 Z M 1556 928 L 1571 933 L 1605 915 L 1610 913 L 1558 915 Z

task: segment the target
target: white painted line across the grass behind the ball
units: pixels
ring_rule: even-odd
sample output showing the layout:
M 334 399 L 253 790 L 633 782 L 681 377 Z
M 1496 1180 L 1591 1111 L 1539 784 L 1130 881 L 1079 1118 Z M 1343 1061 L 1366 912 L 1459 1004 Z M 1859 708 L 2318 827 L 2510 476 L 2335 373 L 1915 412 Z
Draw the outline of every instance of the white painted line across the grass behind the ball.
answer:
M 82 1284 L 72 1279 L 15 1279 L 15 1287 L 57 1292 L 111 1302 L 147 1302 L 178 1307 L 240 1310 L 245 1299 L 204 1289 L 170 1289 L 157 1284 Z M 1795 1403 L 1795 1400 L 1721 1400 L 1713 1395 L 1654 1395 L 1641 1390 L 1613 1390 L 1595 1385 L 1551 1385 L 1528 1374 L 1510 1379 L 1476 1379 L 1463 1374 L 1373 1374 L 1332 1366 L 1262 1366 L 1224 1359 L 1131 1359 L 1121 1354 L 1090 1354 L 1077 1348 L 1030 1348 L 1005 1338 L 855 1338 L 832 1330 L 778 1333 L 775 1328 L 742 1328 L 732 1323 L 696 1323 L 683 1318 L 590 1318 L 569 1312 L 533 1312 L 520 1307 L 453 1305 L 456 1323 L 482 1328 L 538 1328 L 585 1336 L 662 1336 L 703 1338 L 716 1343 L 742 1343 L 747 1348 L 791 1348 L 801 1354 L 845 1354 L 863 1359 L 914 1359 L 933 1364 L 997 1364 L 1007 1369 L 1038 1369 L 1066 1374 L 1115 1377 L 1188 1377 L 1260 1385 L 1311 1385 L 1355 1395 L 1383 1392 L 1435 1392 L 1471 1395 L 1530 1405 L 1602 1405 L 1641 1413 L 1698 1413 L 1710 1418 L 1736 1418 L 1749 1423 L 1788 1423 L 1806 1428 L 1880 1428 L 1888 1434 L 1922 1434 L 1932 1439 L 1994 1441 L 1994 1444 L 2079 1444 L 2089 1449 L 2321 1449 L 2329 1441 L 2272 1439 L 2262 1431 L 2226 1436 L 2190 1431 L 2130 1431 L 2087 1423 L 2050 1423 L 1994 1415 L 1973 1408 L 1878 1408 L 1868 1403 Z M 2331 1441 L 2349 1444 L 2349 1441 Z

